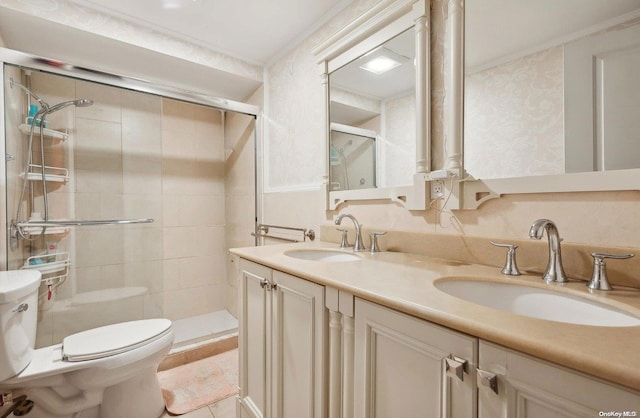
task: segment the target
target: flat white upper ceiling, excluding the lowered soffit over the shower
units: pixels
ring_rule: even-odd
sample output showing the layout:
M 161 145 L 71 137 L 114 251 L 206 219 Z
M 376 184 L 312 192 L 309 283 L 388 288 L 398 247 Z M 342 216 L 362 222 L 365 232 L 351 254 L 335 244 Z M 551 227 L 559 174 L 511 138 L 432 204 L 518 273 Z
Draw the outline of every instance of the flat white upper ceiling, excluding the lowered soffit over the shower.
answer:
M 71 0 L 264 65 L 352 0 Z

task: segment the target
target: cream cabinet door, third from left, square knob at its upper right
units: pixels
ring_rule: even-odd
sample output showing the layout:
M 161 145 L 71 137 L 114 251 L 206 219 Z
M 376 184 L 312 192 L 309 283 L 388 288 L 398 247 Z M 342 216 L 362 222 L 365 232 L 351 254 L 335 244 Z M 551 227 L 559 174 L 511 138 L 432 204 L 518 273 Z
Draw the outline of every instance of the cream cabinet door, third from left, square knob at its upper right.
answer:
M 449 355 L 468 361 L 463 380 Z M 355 417 L 475 417 L 476 359 L 475 338 L 356 299 Z

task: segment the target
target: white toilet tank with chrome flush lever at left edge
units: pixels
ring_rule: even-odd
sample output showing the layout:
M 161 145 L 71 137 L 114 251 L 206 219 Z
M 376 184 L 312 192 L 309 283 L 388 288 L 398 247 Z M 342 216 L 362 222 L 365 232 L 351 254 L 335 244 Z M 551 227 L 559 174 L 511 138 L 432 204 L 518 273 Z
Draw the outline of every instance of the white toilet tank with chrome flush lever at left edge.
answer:
M 0 382 L 33 357 L 40 277 L 36 270 L 0 271 Z

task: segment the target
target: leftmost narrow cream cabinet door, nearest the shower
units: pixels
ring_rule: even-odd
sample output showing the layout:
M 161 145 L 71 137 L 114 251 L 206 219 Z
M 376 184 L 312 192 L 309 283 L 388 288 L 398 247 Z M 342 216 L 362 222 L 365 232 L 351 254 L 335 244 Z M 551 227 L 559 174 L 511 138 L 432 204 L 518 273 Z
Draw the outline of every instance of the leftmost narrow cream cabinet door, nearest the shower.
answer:
M 269 410 L 270 372 L 269 333 L 271 318 L 270 292 L 265 289 L 271 282 L 271 269 L 240 260 L 240 300 L 238 309 L 240 352 L 238 410 L 242 417 L 262 418 Z

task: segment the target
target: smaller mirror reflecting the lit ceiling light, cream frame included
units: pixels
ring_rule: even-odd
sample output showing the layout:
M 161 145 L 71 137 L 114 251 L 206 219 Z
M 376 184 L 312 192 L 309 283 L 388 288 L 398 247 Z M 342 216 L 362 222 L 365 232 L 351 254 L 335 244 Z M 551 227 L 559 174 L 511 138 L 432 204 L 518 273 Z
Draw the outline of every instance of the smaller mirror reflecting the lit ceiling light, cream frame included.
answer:
M 326 93 L 327 209 L 370 199 L 425 209 L 428 23 L 428 1 L 384 0 L 314 50 Z

